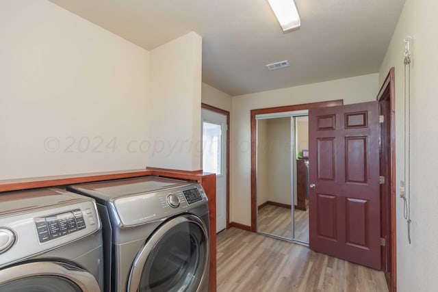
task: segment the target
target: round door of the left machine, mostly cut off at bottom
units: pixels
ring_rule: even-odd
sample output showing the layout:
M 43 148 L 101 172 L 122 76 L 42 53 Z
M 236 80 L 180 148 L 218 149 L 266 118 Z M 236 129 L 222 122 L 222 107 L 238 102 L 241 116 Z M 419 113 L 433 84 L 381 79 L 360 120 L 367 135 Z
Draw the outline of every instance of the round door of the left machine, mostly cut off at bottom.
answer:
M 66 263 L 35 262 L 0 270 L 2 292 L 101 292 L 92 274 Z

